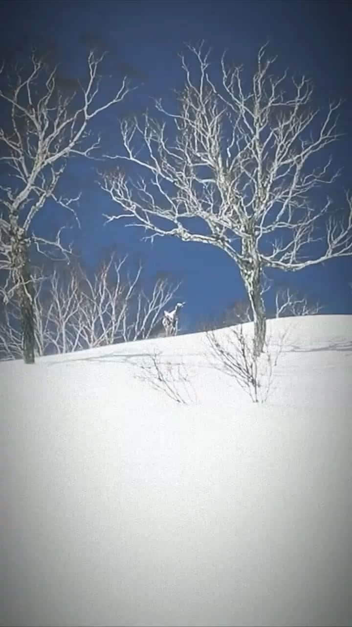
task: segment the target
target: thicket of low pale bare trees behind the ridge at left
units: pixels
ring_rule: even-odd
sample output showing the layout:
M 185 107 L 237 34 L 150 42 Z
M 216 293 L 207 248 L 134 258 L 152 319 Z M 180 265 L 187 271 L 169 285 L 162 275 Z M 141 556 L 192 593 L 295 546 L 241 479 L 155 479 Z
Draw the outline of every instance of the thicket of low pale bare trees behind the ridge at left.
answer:
M 152 290 L 140 286 L 142 265 L 125 270 L 127 255 L 111 255 L 93 277 L 77 266 L 50 277 L 33 274 L 33 313 L 38 356 L 66 353 L 147 339 L 160 321 L 163 308 L 180 283 L 158 279 Z M 13 298 L 0 321 L 0 358 L 22 354 L 21 307 Z

